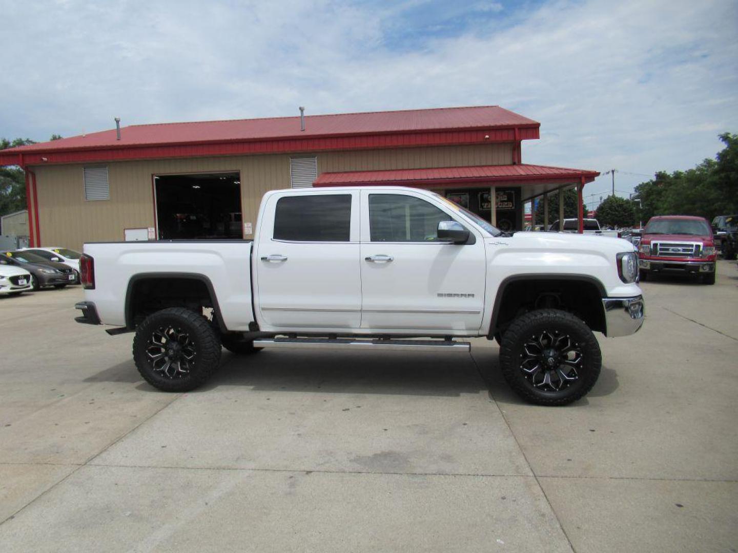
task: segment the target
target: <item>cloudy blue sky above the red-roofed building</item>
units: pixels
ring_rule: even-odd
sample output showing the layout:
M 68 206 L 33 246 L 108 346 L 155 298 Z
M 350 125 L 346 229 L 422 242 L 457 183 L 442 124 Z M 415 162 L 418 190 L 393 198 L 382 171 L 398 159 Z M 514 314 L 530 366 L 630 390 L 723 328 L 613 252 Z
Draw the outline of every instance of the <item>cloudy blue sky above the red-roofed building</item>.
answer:
M 627 195 L 738 133 L 733 0 L 0 0 L 0 137 L 497 104 Z M 587 185 L 588 205 L 610 175 Z

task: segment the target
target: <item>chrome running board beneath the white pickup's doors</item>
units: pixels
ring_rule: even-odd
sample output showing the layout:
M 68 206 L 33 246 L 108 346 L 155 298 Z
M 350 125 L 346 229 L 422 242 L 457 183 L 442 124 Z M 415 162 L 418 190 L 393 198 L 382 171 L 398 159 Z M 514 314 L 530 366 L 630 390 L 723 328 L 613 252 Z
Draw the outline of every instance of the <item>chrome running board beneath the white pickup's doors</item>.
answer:
M 364 349 L 367 351 L 438 351 L 452 349 L 468 352 L 469 342 L 453 340 L 384 340 L 362 338 L 258 338 L 254 347 L 282 349 Z

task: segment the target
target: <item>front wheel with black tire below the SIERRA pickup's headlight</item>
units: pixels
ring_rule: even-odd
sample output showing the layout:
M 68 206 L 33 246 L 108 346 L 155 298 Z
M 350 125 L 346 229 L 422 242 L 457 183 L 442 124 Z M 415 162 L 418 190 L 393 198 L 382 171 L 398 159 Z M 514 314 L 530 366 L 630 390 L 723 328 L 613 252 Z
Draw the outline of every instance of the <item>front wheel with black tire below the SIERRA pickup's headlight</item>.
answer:
M 524 400 L 562 406 L 595 385 L 602 355 L 595 335 L 571 313 L 541 309 L 514 320 L 503 335 L 500 365 Z

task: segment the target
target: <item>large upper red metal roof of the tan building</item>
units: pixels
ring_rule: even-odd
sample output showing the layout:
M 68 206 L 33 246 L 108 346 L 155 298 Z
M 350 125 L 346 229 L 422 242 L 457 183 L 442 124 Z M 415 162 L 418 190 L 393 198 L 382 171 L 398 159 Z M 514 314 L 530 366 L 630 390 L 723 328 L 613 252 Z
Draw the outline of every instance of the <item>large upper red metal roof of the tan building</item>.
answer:
M 46 161 L 71 162 L 96 159 L 89 154 L 80 156 L 80 151 L 100 150 L 106 152 L 107 158 L 100 159 L 131 159 L 120 150 L 136 149 L 133 154 L 139 158 L 177 157 L 192 155 L 229 155 L 234 153 L 258 153 L 273 151 L 330 149 L 351 147 L 351 142 L 331 143 L 326 139 L 339 137 L 366 137 L 373 135 L 404 134 L 420 135 L 427 133 L 466 133 L 461 136 L 463 143 L 477 142 L 489 135 L 492 142 L 508 141 L 512 139 L 538 138 L 539 122 L 528 119 L 512 111 L 500 108 L 497 105 L 486 105 L 466 108 L 435 108 L 416 109 L 407 111 L 374 111 L 356 114 L 312 115 L 306 116 L 306 130 L 300 131 L 300 117 L 272 117 L 268 119 L 235 119 L 228 121 L 201 121 L 186 123 L 162 123 L 158 125 L 130 125 L 121 129 L 121 139 L 116 139 L 115 129 L 100 131 L 52 142 L 41 142 L 29 146 L 21 146 L 2 150 L 0 164 L 9 162 L 10 157 L 17 162 L 18 154 L 28 156 L 29 163 L 44 161 L 34 154 L 47 153 L 50 156 Z M 511 132 L 495 132 L 496 130 L 514 130 Z M 474 136 L 469 131 L 482 131 L 486 135 Z M 458 136 L 446 136 L 445 142 L 440 138 L 421 144 L 456 143 Z M 323 139 L 323 141 L 318 141 Z M 254 142 L 285 142 L 282 147 L 274 144 L 256 146 Z M 252 143 L 245 149 L 234 147 L 233 143 Z M 354 138 L 356 142 L 356 138 Z M 359 141 L 360 142 L 360 141 Z M 376 141 L 375 141 L 376 142 Z M 385 141 L 387 142 L 387 141 Z M 402 145 L 416 145 L 414 139 L 406 137 L 402 141 L 368 142 L 355 147 L 395 147 Z M 210 151 L 204 145 L 226 145 L 230 147 Z M 201 146 L 198 149 L 191 147 Z M 158 149 L 154 150 L 155 147 Z M 162 150 L 168 147 L 168 150 Z M 179 147 L 179 150 L 173 150 Z M 114 150 L 118 150 L 112 153 Z M 61 156 L 61 153 L 69 155 Z

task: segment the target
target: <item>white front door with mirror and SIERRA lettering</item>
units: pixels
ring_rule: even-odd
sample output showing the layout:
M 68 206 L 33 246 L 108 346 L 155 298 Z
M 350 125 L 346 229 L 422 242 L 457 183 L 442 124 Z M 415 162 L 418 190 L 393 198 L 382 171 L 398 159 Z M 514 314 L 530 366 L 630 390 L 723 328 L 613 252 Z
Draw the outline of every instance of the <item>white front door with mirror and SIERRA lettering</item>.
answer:
M 482 324 L 486 256 L 482 237 L 441 242 L 443 202 L 413 192 L 362 190 L 362 328 L 475 333 Z M 471 243 L 471 242 L 474 243 Z

